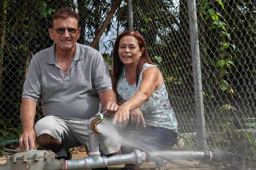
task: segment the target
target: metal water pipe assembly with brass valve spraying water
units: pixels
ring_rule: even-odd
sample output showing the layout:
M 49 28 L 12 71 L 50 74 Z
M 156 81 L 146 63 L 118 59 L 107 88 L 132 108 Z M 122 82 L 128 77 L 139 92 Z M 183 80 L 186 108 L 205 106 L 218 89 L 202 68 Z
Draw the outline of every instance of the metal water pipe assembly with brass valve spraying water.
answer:
M 5 164 L 0 165 L 0 170 L 78 170 L 105 168 L 111 165 L 135 164 L 140 166 L 144 162 L 159 160 L 206 160 L 213 162 L 232 161 L 233 154 L 220 150 L 213 151 L 155 151 L 141 152 L 134 150 L 129 154 L 104 156 L 99 151 L 99 134 L 96 127 L 99 123 L 107 123 L 102 114 L 97 113 L 88 121 L 89 157 L 76 160 L 57 160 L 52 156 L 52 151 L 25 150 L 7 155 Z

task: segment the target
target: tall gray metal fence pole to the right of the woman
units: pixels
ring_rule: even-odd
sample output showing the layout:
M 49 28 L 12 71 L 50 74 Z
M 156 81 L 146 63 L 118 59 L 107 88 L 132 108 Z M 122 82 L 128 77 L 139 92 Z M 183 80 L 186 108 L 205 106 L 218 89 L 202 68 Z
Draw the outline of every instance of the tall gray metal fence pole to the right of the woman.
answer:
M 188 0 L 189 30 L 191 41 L 191 55 L 193 66 L 193 80 L 195 93 L 196 131 L 198 150 L 206 149 L 206 131 L 204 121 L 204 103 L 202 90 L 202 77 L 199 54 L 199 39 L 197 30 L 197 16 L 195 0 Z

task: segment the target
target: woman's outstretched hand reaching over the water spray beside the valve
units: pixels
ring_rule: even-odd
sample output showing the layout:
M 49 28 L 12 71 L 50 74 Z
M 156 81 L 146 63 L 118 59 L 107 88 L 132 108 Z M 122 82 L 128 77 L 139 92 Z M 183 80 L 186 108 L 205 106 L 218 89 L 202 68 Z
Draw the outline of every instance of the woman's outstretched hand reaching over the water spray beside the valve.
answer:
M 125 105 L 119 106 L 118 110 L 115 113 L 113 124 L 115 125 L 115 122 L 118 121 L 119 127 L 123 128 L 123 126 L 126 126 L 129 121 L 129 114 L 130 114 L 130 108 Z

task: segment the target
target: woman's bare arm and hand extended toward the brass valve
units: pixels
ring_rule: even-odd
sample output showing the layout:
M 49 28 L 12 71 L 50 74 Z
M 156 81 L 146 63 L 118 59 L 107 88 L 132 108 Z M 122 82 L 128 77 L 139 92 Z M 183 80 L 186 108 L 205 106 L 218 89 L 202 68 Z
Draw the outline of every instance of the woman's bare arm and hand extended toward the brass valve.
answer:
M 115 113 L 113 124 L 118 121 L 120 128 L 126 126 L 129 121 L 130 111 L 139 108 L 146 100 L 148 100 L 153 91 L 162 86 L 162 82 L 162 75 L 156 67 L 146 68 L 142 73 L 142 82 L 138 92 L 136 92 L 130 100 L 119 106 Z

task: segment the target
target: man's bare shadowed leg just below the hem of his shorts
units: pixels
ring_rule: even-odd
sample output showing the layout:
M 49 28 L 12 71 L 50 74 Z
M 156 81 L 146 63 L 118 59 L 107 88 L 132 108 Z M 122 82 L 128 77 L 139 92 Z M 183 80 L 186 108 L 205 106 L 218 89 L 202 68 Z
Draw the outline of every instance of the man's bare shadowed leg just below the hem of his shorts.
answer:
M 55 139 L 54 137 L 52 137 L 51 135 L 49 135 L 47 133 L 37 136 L 36 142 L 42 147 L 48 146 L 48 145 L 61 145 L 62 144 L 62 141 Z

